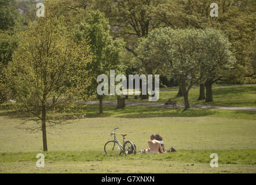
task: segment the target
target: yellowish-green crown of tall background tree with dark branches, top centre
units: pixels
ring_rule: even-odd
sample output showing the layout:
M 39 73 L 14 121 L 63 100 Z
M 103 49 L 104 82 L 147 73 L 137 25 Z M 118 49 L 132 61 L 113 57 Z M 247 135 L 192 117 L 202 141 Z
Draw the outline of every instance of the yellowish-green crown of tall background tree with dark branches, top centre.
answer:
M 125 39 L 126 49 L 136 55 L 137 39 L 147 36 L 156 21 L 152 20 L 153 10 L 163 0 L 130 1 L 130 0 L 100 0 L 96 1 L 94 9 L 99 9 L 109 18 L 112 34 Z

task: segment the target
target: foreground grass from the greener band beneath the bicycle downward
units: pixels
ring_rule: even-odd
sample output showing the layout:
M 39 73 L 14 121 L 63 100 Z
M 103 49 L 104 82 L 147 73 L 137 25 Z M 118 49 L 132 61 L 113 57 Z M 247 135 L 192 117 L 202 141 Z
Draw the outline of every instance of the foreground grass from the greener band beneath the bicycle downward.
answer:
M 210 168 L 217 153 L 218 168 Z M 1 171 L 7 173 L 255 173 L 256 150 L 180 150 L 167 154 L 108 157 L 100 151 L 51 151 L 45 167 L 35 165 L 37 153 L 1 153 Z M 0 172 L 1 172 L 0 171 Z

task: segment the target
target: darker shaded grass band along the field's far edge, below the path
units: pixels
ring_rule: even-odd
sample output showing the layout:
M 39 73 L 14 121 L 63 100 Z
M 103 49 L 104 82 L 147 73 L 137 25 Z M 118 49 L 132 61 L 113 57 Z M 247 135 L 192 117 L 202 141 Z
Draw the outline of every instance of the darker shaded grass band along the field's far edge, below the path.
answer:
M 220 110 L 220 109 L 200 109 L 191 108 L 184 111 L 183 108 L 166 109 L 160 106 L 126 106 L 123 109 L 117 109 L 115 105 L 103 105 L 103 113 L 99 112 L 98 105 L 88 105 L 83 110 L 86 112 L 87 118 L 96 117 L 121 117 L 132 119 L 143 119 L 151 117 L 225 117 L 233 119 L 250 119 L 256 120 L 255 112 L 253 111 L 241 111 L 241 110 Z M 62 114 L 62 113 L 60 113 Z M 72 120 L 72 114 L 76 113 L 76 109 L 73 109 L 70 113 L 65 113 L 63 116 L 68 116 Z M 49 113 L 49 116 L 51 114 Z M 80 114 L 79 114 L 80 115 Z M 77 116 L 76 115 L 76 118 Z M 23 119 L 25 114 L 17 114 L 14 110 L 0 110 L 0 116 L 6 116 L 11 119 Z M 82 114 L 81 114 L 82 116 Z

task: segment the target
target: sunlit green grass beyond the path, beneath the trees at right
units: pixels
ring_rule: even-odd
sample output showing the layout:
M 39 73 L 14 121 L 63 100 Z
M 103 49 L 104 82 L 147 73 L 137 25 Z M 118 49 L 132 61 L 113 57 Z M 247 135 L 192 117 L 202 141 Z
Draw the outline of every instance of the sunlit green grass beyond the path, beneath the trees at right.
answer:
M 177 87 L 176 87 L 177 88 Z M 170 89 L 170 88 L 167 88 Z M 160 98 L 157 102 L 165 103 L 169 98 L 175 99 L 177 103 L 184 104 L 183 97 L 177 98 L 178 91 L 160 91 Z M 199 89 L 189 90 L 189 103 L 196 105 L 219 105 L 219 106 L 242 106 L 256 107 L 256 85 L 251 86 L 231 86 L 213 88 L 213 102 L 198 101 Z M 105 101 L 116 101 L 116 97 L 108 96 Z M 133 95 L 129 96 L 126 101 L 148 102 L 148 99 L 134 99 Z

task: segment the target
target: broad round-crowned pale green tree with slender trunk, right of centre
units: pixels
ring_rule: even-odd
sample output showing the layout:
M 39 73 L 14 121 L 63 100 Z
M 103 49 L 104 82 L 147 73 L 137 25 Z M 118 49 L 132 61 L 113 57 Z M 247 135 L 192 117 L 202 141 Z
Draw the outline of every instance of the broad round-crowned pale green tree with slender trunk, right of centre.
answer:
M 141 39 L 138 57 L 151 62 L 152 69 L 177 79 L 189 108 L 188 92 L 193 84 L 218 77 L 234 63 L 231 44 L 215 29 L 159 28 Z M 149 65 L 149 64 L 148 64 Z M 220 71 L 220 72 L 219 72 Z

